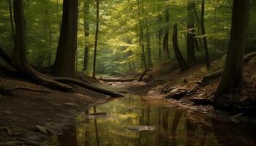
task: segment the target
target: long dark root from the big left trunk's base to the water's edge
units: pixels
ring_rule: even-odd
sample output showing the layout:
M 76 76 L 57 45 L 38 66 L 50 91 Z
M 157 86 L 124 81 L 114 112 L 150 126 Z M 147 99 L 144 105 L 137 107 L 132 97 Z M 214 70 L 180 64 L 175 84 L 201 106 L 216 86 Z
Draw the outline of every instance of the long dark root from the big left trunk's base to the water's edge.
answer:
M 123 95 L 121 95 L 120 93 L 115 93 L 113 91 L 108 91 L 108 90 L 105 90 L 105 89 L 102 89 L 102 88 L 97 88 L 95 86 L 89 85 L 86 82 L 82 82 L 80 80 L 75 80 L 75 79 L 67 78 L 67 77 L 54 77 L 53 79 L 56 80 L 56 81 L 59 81 L 59 82 L 66 82 L 66 83 L 72 83 L 72 84 L 75 84 L 75 85 L 80 85 L 83 88 L 87 88 L 87 89 L 89 89 L 91 91 L 95 91 L 97 93 L 103 93 L 103 94 L 108 95 L 108 96 L 123 97 Z

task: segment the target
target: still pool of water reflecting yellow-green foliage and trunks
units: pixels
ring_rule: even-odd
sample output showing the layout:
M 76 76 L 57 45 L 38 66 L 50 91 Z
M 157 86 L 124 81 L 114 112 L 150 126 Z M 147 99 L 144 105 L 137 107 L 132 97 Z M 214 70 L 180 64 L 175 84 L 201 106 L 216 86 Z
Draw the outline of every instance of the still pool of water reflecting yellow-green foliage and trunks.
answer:
M 88 118 L 88 115 L 99 112 L 107 112 L 111 116 Z M 77 125 L 70 131 L 72 134 L 60 136 L 59 142 L 55 143 L 60 146 L 255 144 L 253 132 L 252 135 L 248 134 L 248 131 L 243 134 L 233 133 L 233 130 L 243 131 L 244 126 L 239 127 L 242 124 L 236 126 L 221 121 L 212 123 L 210 129 L 203 128 L 188 120 L 186 113 L 181 110 L 148 103 L 143 97 L 130 95 L 98 105 L 78 115 Z M 130 131 L 127 129 L 129 126 L 153 126 L 155 130 Z M 230 126 L 236 128 L 231 129 Z M 72 129 L 75 132 L 72 132 Z M 230 142 L 230 139 L 233 141 Z

